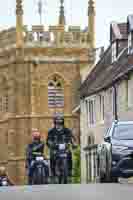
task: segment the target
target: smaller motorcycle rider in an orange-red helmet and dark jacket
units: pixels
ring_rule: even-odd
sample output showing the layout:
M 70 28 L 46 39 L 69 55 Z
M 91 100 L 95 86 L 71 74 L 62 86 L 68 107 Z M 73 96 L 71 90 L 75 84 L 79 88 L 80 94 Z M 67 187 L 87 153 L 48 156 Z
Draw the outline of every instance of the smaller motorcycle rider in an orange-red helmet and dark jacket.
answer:
M 28 184 L 32 184 L 32 175 L 35 167 L 35 158 L 37 155 L 43 155 L 44 142 L 41 141 L 41 134 L 37 129 L 32 130 L 33 141 L 28 144 L 26 150 L 26 168 L 28 171 Z

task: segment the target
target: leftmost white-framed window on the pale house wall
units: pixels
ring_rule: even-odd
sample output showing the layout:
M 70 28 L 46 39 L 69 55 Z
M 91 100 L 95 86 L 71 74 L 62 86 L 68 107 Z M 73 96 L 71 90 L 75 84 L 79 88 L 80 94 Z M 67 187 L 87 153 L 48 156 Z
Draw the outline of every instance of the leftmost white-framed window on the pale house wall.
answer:
M 89 125 L 95 124 L 96 121 L 95 106 L 96 106 L 95 99 L 87 100 L 87 115 L 88 115 Z

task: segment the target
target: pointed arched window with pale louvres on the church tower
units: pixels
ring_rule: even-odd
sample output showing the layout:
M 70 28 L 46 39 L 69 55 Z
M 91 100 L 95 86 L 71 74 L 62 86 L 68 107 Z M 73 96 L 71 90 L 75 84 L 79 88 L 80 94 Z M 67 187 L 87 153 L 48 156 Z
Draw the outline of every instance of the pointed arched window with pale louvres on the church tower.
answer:
M 48 84 L 48 105 L 50 108 L 64 107 L 63 84 L 56 76 L 54 76 Z

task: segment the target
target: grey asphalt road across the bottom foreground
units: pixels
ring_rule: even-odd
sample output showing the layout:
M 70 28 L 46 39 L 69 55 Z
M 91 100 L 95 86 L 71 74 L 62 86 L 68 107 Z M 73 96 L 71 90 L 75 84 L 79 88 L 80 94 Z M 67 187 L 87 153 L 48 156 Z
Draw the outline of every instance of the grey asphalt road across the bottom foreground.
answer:
M 132 184 L 49 185 L 0 188 L 0 200 L 133 200 Z

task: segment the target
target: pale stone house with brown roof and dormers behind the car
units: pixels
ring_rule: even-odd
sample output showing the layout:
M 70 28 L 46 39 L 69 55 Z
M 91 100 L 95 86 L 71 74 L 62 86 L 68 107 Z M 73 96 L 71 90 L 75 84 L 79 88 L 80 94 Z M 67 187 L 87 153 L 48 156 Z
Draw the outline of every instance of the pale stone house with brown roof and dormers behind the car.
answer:
M 94 181 L 94 157 L 87 166 L 84 149 L 96 147 L 115 119 L 133 120 L 132 15 L 110 25 L 110 45 L 81 86 L 80 108 L 82 182 L 90 180 L 88 171 Z

